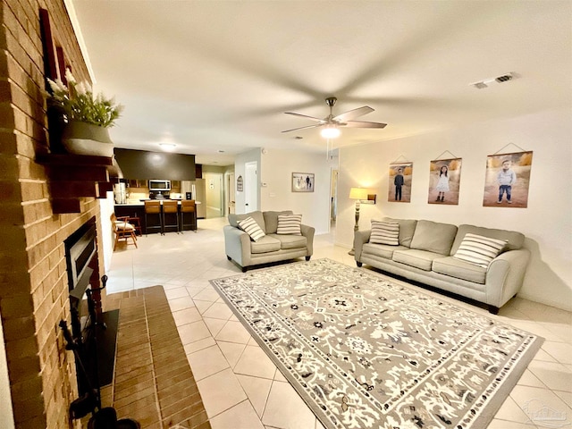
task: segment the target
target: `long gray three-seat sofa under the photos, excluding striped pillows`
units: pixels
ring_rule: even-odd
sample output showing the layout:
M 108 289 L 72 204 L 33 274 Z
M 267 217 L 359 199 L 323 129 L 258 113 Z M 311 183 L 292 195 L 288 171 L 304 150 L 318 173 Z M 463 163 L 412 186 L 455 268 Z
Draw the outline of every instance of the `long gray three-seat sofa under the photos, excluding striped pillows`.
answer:
M 492 314 L 497 314 L 522 286 L 530 253 L 522 248 L 525 236 L 520 232 L 425 220 L 386 217 L 383 221 L 400 224 L 399 246 L 370 243 L 371 230 L 357 231 L 354 239 L 357 266 L 371 265 L 475 299 L 487 304 Z M 488 267 L 470 264 L 453 257 L 467 233 L 507 240 L 507 244 Z

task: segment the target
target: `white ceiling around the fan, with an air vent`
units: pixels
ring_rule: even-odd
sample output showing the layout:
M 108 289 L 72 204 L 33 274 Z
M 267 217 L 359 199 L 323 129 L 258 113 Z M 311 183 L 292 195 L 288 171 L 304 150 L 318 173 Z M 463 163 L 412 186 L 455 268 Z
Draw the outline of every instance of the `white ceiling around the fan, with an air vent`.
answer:
M 96 89 L 125 105 L 116 147 L 232 164 L 253 147 L 325 151 L 298 112 L 369 105 L 334 147 L 571 105 L 572 2 L 72 0 Z M 71 11 L 72 13 L 72 11 Z M 507 72 L 517 79 L 469 86 Z M 296 136 L 303 139 L 294 139 Z M 224 151 L 220 154 L 219 151 Z

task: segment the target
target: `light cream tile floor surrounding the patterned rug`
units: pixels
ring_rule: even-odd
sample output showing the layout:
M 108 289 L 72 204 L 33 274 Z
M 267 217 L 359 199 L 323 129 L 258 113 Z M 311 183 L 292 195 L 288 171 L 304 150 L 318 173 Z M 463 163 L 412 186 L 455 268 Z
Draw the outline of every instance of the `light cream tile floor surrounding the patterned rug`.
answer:
M 208 282 L 240 273 L 224 255 L 225 218 L 198 221 L 198 232 L 139 238 L 139 248 L 114 252 L 107 293 L 162 284 L 206 413 L 214 429 L 321 429 L 315 418 L 257 342 L 232 315 Z M 315 237 L 313 258 L 329 257 L 355 266 L 348 249 L 331 234 Z M 443 300 L 542 335 L 546 341 L 489 429 L 570 427 L 572 422 L 572 314 L 512 299 L 498 316 L 447 298 Z M 550 409 L 546 423 L 534 415 Z

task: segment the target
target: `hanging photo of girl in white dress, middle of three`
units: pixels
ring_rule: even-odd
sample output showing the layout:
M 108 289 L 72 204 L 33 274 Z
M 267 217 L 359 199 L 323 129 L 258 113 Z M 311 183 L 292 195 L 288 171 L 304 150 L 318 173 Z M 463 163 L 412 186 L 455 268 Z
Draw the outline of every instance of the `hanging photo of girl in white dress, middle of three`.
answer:
M 461 158 L 438 159 L 429 164 L 429 204 L 458 206 Z

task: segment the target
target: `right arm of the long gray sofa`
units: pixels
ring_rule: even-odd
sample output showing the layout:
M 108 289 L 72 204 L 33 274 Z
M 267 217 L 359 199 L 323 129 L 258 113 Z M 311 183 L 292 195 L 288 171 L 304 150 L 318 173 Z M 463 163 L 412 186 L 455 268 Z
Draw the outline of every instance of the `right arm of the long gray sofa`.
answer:
M 526 248 L 509 250 L 495 257 L 486 273 L 486 303 L 502 307 L 522 287 L 530 252 Z

